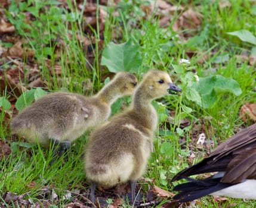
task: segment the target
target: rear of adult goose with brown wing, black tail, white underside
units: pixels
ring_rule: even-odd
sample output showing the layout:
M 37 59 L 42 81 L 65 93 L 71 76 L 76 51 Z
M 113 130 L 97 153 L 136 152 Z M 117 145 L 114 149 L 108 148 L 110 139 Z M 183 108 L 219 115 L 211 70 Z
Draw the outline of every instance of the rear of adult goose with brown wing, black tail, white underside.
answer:
M 174 199 L 192 201 L 211 194 L 233 198 L 256 199 L 256 124 L 243 129 L 218 146 L 209 157 L 179 172 L 172 178 L 186 178 L 190 182 L 174 187 L 180 191 Z M 205 179 L 191 179 L 190 175 L 214 172 Z

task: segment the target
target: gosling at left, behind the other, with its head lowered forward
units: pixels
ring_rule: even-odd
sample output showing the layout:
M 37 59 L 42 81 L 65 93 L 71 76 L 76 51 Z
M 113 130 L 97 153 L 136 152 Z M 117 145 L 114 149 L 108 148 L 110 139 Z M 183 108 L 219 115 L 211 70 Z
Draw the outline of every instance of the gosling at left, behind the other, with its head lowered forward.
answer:
M 30 143 L 49 147 L 59 145 L 58 155 L 85 131 L 106 121 L 111 105 L 122 96 L 131 95 L 137 78 L 126 72 L 115 75 L 103 89 L 91 97 L 56 92 L 48 94 L 20 112 L 11 124 L 13 133 Z

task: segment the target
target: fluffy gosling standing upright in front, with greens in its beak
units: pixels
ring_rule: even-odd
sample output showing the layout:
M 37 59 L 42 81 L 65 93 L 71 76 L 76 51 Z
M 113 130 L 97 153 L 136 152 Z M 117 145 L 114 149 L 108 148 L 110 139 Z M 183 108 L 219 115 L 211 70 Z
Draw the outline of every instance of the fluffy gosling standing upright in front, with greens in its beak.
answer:
M 181 90 L 172 84 L 169 75 L 150 70 L 135 89 L 131 108 L 92 131 L 84 156 L 92 202 L 95 203 L 98 184 L 112 187 L 129 181 L 134 203 L 136 183 L 153 152 L 153 136 L 158 124 L 151 101 L 172 92 Z

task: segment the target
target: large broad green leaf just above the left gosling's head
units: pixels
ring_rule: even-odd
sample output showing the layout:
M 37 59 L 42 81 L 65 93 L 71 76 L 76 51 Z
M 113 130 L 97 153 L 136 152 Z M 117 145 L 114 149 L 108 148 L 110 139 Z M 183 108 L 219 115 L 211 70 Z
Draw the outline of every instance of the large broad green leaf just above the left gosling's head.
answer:
M 101 65 L 106 65 L 109 71 L 137 72 L 142 63 L 140 46 L 128 40 L 128 42 L 115 44 L 110 42 L 104 48 L 101 58 Z

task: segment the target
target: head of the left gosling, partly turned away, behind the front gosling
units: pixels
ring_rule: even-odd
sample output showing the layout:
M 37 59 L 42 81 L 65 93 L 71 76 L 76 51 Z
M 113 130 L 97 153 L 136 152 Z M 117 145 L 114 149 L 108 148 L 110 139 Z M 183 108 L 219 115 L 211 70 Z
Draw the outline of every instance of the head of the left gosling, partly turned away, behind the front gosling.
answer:
M 134 92 L 134 88 L 137 86 L 137 83 L 137 77 L 125 71 L 117 73 L 113 80 L 116 90 L 118 90 L 118 93 L 123 96 L 131 95 Z

